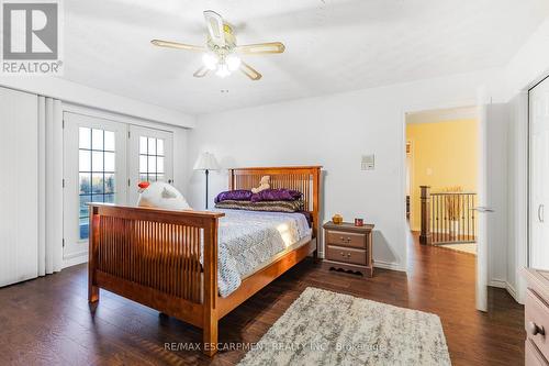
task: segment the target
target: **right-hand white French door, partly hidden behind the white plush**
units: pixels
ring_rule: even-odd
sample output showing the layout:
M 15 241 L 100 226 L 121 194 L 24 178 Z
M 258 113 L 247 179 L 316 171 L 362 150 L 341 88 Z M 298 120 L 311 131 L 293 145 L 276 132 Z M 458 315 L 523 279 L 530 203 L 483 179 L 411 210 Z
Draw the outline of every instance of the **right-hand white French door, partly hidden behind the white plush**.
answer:
M 171 132 L 130 125 L 128 204 L 136 204 L 139 181 L 173 182 L 173 134 Z

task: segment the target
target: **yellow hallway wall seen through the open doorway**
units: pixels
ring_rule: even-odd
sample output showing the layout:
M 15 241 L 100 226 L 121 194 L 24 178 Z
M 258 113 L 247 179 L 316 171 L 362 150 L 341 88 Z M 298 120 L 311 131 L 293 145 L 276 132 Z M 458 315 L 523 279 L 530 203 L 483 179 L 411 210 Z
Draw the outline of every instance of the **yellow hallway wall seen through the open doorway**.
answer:
M 477 191 L 478 135 L 477 120 L 406 125 L 406 140 L 412 142 L 412 230 L 421 230 L 419 186 Z

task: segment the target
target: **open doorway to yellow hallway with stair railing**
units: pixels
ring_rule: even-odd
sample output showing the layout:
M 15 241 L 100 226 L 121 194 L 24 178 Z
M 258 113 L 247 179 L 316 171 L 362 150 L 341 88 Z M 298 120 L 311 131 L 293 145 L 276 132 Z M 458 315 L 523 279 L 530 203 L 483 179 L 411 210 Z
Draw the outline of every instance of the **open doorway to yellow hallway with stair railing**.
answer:
M 467 256 L 463 260 L 475 268 L 467 281 L 479 310 L 486 309 L 486 219 L 481 211 L 490 211 L 483 204 L 488 170 L 482 111 L 462 107 L 408 112 L 404 138 L 408 260 L 417 251 L 429 252 L 433 260 L 439 251 Z

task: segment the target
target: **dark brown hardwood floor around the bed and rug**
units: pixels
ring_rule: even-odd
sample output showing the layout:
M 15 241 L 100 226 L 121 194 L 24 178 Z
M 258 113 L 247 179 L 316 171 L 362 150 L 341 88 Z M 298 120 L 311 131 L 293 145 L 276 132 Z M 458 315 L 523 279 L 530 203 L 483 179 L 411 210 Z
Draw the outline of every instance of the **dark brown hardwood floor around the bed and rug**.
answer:
M 453 365 L 522 365 L 524 309 L 503 289 L 489 291 L 489 313 L 474 310 L 474 256 L 411 244 L 408 275 L 377 269 L 373 278 L 329 271 L 306 260 L 220 323 L 220 342 L 257 342 L 309 286 L 440 317 Z M 177 350 L 201 342 L 200 330 L 101 291 L 87 302 L 86 265 L 0 289 L 0 365 L 231 365 L 245 351 L 213 359 Z M 175 351 L 166 343 L 176 343 Z

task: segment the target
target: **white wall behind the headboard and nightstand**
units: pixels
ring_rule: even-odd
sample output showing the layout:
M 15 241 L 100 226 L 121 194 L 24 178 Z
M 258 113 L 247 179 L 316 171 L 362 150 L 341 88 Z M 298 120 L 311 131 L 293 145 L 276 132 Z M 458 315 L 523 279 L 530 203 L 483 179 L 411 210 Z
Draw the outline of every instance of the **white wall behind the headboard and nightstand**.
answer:
M 374 223 L 377 264 L 404 270 L 404 112 L 473 106 L 479 86 L 502 99 L 501 76 L 491 69 L 202 115 L 190 132 L 188 166 L 203 151 L 224 168 L 321 164 L 322 220 L 338 212 Z M 376 169 L 361 171 L 360 156 L 368 153 L 376 154 Z M 213 173 L 210 200 L 226 187 L 226 170 Z M 187 193 L 203 208 L 203 173 L 190 171 Z

